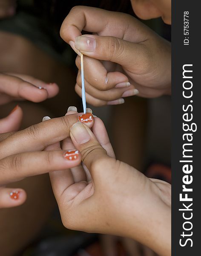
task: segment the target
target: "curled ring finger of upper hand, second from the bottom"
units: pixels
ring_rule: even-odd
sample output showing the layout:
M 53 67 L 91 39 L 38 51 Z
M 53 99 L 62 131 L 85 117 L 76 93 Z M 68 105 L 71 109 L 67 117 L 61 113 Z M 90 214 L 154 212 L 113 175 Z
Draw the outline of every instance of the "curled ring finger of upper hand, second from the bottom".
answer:
M 77 76 L 77 84 L 80 86 L 80 88 L 82 87 L 81 76 L 79 73 Z M 113 101 L 116 99 L 120 99 L 121 97 L 133 96 L 138 93 L 138 90 L 136 90 L 133 85 L 130 85 L 124 88 L 112 88 L 109 90 L 102 91 L 93 87 L 86 80 L 84 84 L 85 84 L 85 90 L 87 93 L 89 93 L 89 95 L 97 99 L 101 99 L 103 101 Z

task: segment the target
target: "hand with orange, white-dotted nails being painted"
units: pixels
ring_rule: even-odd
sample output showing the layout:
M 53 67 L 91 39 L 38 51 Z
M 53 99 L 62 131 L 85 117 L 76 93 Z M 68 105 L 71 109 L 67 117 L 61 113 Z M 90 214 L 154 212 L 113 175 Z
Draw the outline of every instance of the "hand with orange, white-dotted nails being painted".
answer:
M 69 136 L 69 128 L 78 121 L 78 115 L 47 120 L 15 133 L 0 134 L 0 208 L 18 206 L 26 200 L 23 189 L 5 188 L 7 184 L 80 163 L 78 151 L 73 159 L 69 157 L 72 152 L 43 151 Z M 93 120 L 88 122 L 89 127 Z

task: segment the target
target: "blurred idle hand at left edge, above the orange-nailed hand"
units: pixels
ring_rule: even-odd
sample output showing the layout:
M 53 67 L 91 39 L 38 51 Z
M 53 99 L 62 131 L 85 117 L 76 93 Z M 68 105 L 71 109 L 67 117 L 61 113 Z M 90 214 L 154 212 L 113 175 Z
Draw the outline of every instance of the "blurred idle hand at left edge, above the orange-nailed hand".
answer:
M 47 84 L 32 76 L 0 73 L 0 105 L 14 100 L 41 102 L 57 95 L 57 84 Z

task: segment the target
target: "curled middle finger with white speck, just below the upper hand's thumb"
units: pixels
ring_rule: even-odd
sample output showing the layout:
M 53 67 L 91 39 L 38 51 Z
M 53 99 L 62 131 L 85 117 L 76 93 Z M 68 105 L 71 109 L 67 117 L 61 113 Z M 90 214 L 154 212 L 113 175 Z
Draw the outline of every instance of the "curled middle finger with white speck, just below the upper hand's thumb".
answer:
M 103 64 L 95 59 L 84 56 L 84 76 L 89 84 L 99 90 L 109 90 L 119 83 L 128 83 L 129 79 L 121 72 L 107 72 Z M 80 56 L 76 58 L 76 66 L 80 70 Z M 78 76 L 80 77 L 80 76 Z

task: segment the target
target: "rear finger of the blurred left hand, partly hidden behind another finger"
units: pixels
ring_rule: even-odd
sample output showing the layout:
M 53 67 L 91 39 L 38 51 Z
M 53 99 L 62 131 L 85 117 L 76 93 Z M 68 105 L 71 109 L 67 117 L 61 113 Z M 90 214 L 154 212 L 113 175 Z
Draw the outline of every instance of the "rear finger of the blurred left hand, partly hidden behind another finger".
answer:
M 59 87 L 56 83 L 45 83 L 42 80 L 24 74 L 9 73 L 9 75 L 16 76 L 24 81 L 29 82 L 30 84 L 34 84 L 37 87 L 45 88 L 48 92 L 48 98 L 54 97 L 59 92 Z

